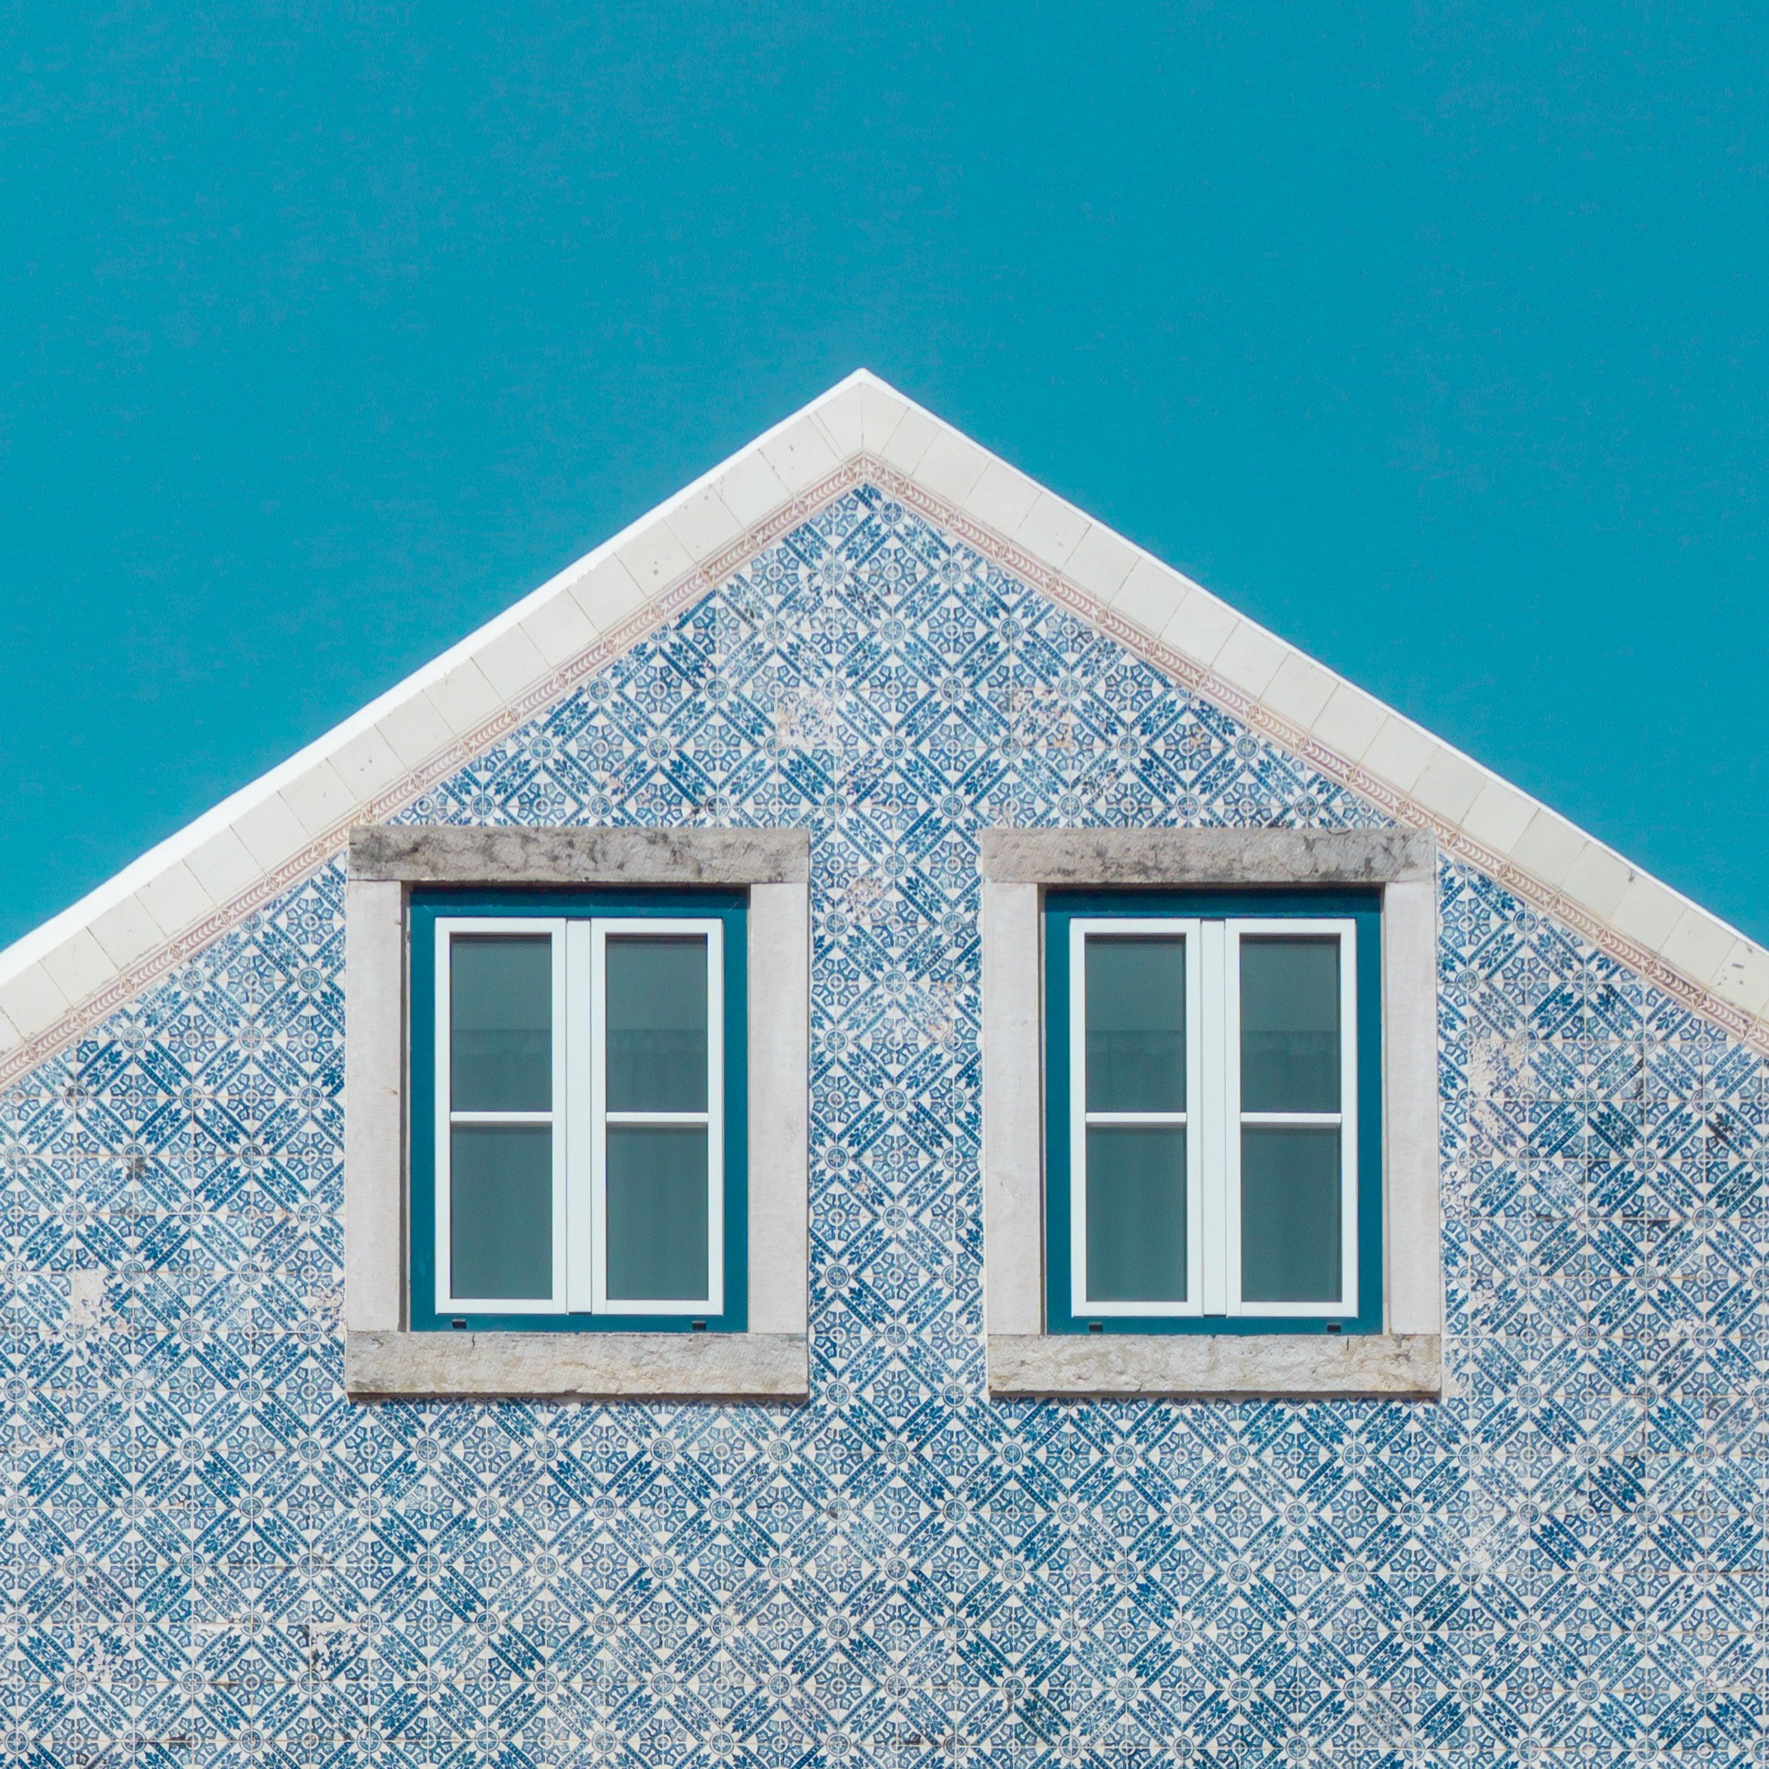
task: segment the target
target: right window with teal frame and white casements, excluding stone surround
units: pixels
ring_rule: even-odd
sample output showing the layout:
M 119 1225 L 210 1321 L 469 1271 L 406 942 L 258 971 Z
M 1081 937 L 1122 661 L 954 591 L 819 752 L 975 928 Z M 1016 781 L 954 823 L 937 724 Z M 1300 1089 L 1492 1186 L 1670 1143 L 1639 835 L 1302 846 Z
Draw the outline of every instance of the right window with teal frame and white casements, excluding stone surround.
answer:
M 1378 957 L 1373 893 L 1047 895 L 1053 1332 L 1380 1332 Z

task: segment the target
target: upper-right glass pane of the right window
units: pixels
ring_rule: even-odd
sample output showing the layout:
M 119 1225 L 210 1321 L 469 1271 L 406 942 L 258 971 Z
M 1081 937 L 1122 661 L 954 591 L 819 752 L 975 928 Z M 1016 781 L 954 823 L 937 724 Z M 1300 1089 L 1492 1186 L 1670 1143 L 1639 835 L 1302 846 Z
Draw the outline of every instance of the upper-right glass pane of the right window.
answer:
M 1339 941 L 1240 941 L 1240 1109 L 1339 1109 Z

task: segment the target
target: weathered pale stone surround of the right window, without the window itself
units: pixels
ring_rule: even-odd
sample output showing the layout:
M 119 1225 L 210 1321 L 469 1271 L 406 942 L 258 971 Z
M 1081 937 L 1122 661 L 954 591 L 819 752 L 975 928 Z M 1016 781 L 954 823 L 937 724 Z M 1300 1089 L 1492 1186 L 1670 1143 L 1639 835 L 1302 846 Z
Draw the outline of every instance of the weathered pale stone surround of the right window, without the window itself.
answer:
M 1440 1396 L 1444 1245 L 1431 837 L 1412 830 L 985 830 L 978 865 L 991 1396 Z M 1044 1332 L 1044 892 L 1187 884 L 1382 892 L 1382 1334 Z

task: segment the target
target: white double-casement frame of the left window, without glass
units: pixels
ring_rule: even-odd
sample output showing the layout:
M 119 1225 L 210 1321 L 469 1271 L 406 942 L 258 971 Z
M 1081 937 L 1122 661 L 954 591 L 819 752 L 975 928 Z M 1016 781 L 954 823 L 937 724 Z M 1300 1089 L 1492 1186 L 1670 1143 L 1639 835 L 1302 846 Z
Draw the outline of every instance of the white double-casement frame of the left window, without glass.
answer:
M 725 945 L 716 916 L 439 916 L 435 923 L 435 1311 L 437 1314 L 722 1314 L 725 1307 Z M 701 1113 L 609 1113 L 607 943 L 609 936 L 688 934 L 706 939 L 708 1109 Z M 547 938 L 552 941 L 552 1109 L 455 1111 L 451 943 L 458 938 Z M 708 1132 L 708 1295 L 644 1300 L 609 1297 L 609 1123 L 693 1123 Z M 554 1130 L 552 1295 L 458 1297 L 451 1290 L 451 1130 L 460 1123 L 550 1123 Z

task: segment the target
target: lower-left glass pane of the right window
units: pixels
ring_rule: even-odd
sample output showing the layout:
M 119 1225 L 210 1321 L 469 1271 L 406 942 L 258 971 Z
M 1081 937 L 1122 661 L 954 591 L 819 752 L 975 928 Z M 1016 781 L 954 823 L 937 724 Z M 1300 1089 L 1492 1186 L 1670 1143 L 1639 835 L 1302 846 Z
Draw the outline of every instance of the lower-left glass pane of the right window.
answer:
M 1088 1130 L 1088 1298 L 1185 1300 L 1185 1129 Z

